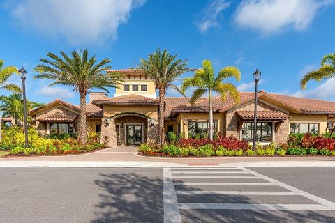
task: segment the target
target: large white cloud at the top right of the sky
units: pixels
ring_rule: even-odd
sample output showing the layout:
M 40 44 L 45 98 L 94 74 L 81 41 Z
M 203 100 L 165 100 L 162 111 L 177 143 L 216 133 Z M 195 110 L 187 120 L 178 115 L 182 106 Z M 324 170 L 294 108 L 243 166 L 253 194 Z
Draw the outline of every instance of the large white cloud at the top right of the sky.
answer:
M 234 22 L 264 34 L 278 33 L 292 27 L 306 29 L 324 6 L 334 0 L 245 0 L 237 8 Z

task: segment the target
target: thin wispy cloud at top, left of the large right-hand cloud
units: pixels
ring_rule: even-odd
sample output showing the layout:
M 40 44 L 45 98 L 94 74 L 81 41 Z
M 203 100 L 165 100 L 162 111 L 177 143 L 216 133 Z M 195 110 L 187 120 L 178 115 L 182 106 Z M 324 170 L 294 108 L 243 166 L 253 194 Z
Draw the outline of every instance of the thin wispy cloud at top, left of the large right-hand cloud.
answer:
M 196 26 L 201 33 L 205 33 L 209 28 L 218 25 L 218 17 L 221 16 L 223 10 L 230 6 L 230 2 L 225 0 L 214 0 L 204 8 L 199 16 Z

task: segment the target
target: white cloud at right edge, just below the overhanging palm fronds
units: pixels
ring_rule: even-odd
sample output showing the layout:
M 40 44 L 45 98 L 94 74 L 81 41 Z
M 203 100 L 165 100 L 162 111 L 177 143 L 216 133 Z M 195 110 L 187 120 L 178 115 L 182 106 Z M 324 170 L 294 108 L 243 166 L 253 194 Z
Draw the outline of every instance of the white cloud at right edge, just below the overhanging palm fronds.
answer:
M 335 96 L 335 78 L 327 79 L 322 84 L 319 84 L 315 89 L 300 90 L 290 95 L 301 98 L 317 98 L 327 100 Z

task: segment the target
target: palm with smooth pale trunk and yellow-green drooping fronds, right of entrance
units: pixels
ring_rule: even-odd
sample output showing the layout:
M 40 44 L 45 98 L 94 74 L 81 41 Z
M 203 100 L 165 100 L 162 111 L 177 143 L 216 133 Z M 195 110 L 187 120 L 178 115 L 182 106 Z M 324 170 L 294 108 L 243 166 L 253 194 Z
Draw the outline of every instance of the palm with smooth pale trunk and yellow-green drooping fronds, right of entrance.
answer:
M 241 72 L 235 67 L 225 67 L 218 72 L 217 77 L 214 74 L 214 68 L 211 61 L 204 60 L 202 68 L 195 71 L 193 77 L 184 79 L 181 84 L 181 92 L 185 94 L 186 89 L 195 87 L 193 95 L 190 98 L 191 105 L 194 105 L 205 93 L 209 93 L 209 139 L 213 140 L 213 106 L 212 106 L 212 92 L 218 93 L 222 100 L 225 100 L 227 94 L 230 95 L 235 102 L 239 102 L 239 92 L 236 86 L 232 83 L 223 83 L 223 79 L 234 77 L 239 81 L 241 79 Z

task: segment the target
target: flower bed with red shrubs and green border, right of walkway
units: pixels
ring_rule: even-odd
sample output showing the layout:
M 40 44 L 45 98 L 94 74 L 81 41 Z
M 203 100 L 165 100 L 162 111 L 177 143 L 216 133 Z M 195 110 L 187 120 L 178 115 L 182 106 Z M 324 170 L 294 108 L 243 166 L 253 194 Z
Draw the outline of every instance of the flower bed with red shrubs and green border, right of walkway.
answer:
M 241 155 L 335 155 L 335 139 L 311 134 L 292 134 L 285 144 L 256 146 L 235 137 L 218 137 L 208 139 L 179 139 L 170 145 L 159 148 L 156 145 L 142 144 L 139 148 L 142 155 L 168 157 L 212 157 Z

